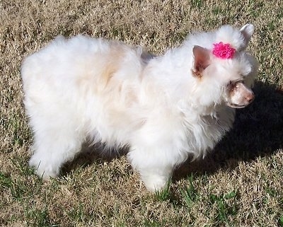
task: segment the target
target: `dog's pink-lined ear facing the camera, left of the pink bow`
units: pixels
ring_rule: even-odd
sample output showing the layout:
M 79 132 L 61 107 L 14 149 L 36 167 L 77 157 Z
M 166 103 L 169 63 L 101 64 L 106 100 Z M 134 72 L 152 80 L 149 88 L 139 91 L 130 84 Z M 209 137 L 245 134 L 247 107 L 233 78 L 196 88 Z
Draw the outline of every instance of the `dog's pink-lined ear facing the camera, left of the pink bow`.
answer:
M 210 64 L 209 50 L 195 45 L 192 47 L 192 54 L 194 56 L 192 74 L 197 77 L 202 77 L 202 71 Z

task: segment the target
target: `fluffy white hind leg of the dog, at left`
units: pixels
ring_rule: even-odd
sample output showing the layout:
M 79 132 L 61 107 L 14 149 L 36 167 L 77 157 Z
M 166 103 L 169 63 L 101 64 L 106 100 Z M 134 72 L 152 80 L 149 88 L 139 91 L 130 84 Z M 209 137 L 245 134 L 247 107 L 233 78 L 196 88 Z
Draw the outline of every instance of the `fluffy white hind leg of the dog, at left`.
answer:
M 33 156 L 29 164 L 43 179 L 57 177 L 62 164 L 81 151 L 83 139 L 74 128 L 62 123 L 43 127 L 36 124 L 33 127 Z

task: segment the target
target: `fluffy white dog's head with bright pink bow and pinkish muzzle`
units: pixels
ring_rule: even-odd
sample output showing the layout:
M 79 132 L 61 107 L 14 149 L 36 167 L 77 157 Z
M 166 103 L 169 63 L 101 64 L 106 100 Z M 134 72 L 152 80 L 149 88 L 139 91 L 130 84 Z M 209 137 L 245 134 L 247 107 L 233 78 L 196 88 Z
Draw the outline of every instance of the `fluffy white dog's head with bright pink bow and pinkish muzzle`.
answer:
M 245 52 L 253 30 L 251 24 L 241 30 L 224 25 L 213 33 L 212 43 L 192 47 L 192 75 L 203 93 L 202 104 L 225 103 L 241 108 L 253 101 L 255 95 L 250 88 L 258 73 L 258 63 Z

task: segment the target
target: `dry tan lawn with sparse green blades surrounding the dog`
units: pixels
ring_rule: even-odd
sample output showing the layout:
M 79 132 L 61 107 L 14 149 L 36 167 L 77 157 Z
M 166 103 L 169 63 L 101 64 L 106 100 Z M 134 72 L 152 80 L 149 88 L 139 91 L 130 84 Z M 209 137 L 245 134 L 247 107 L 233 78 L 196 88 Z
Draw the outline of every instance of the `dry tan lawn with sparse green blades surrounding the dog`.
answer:
M 283 2 L 0 1 L 0 226 L 283 226 Z M 192 30 L 255 25 L 256 99 L 204 160 L 152 194 L 125 156 L 85 153 L 43 182 L 28 168 L 23 58 L 56 35 L 123 40 L 162 54 Z

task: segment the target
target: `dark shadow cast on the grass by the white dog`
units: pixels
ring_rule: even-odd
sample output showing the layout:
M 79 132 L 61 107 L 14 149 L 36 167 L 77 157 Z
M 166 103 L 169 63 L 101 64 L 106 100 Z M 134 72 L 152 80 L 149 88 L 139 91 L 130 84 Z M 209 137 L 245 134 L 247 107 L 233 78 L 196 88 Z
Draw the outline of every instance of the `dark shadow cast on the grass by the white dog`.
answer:
M 267 83 L 257 82 L 253 88 L 255 101 L 236 111 L 233 129 L 224 136 L 213 151 L 201 160 L 188 159 L 173 175 L 179 180 L 191 173 L 214 173 L 219 169 L 236 168 L 239 161 L 254 160 L 258 156 L 270 156 L 283 148 L 283 91 Z M 104 153 L 103 144 L 84 146 L 83 152 L 64 165 L 63 174 L 78 166 L 108 162 L 125 155 L 127 149 Z

